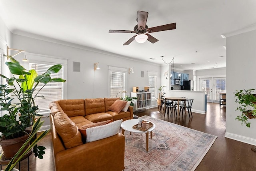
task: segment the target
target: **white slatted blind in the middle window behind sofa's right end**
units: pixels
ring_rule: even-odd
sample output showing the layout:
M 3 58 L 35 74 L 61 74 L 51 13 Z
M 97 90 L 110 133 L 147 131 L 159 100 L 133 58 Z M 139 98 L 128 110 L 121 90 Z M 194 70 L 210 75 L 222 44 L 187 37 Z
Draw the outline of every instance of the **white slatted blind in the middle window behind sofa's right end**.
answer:
M 124 72 L 110 71 L 110 97 L 122 97 L 118 92 L 125 90 L 125 76 Z

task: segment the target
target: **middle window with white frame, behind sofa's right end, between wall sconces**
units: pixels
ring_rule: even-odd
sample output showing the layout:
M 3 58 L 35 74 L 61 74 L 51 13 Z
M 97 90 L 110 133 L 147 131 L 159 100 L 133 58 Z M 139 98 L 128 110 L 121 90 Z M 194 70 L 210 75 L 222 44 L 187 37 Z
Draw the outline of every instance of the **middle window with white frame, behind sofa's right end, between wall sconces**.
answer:
M 126 89 L 126 69 L 110 67 L 110 97 L 124 97 L 121 93 Z

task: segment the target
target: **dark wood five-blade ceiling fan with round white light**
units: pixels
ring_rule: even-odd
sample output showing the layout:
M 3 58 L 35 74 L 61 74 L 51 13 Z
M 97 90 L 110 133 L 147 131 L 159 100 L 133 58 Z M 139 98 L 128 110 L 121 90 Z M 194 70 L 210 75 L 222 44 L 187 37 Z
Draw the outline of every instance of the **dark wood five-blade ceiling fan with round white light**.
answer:
M 130 38 L 127 42 L 125 42 L 123 44 L 123 45 L 128 45 L 132 41 L 134 41 L 134 39 L 138 43 L 144 43 L 147 40 L 150 41 L 151 43 L 156 43 L 158 40 L 156 38 L 154 38 L 153 36 L 151 36 L 150 34 L 148 34 L 148 33 L 176 29 L 176 23 L 148 28 L 148 26 L 146 25 L 146 22 L 147 22 L 147 19 L 148 19 L 148 12 L 138 11 L 137 15 L 138 15 L 138 18 L 137 18 L 138 25 L 136 25 L 134 27 L 134 31 L 109 30 L 108 32 L 109 33 L 136 33 L 137 35 L 133 36 L 132 38 Z

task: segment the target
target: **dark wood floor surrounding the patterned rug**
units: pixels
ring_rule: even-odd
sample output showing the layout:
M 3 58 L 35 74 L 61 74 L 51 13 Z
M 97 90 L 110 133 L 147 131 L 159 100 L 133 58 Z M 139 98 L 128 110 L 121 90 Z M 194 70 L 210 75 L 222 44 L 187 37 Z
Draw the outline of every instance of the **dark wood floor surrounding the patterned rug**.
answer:
M 136 113 L 138 116 L 148 115 L 166 120 L 178 125 L 189 127 L 198 131 L 218 136 L 196 171 L 256 171 L 256 153 L 251 150 L 252 145 L 225 138 L 226 108 L 219 107 L 218 103 L 208 103 L 205 115 L 193 113 L 193 118 L 188 115 L 165 116 L 159 109 L 152 108 Z M 30 171 L 54 171 L 52 156 L 51 135 L 44 137 L 40 144 L 46 147 L 44 159 L 30 156 Z M 27 160 L 22 161 L 21 171 L 27 170 Z

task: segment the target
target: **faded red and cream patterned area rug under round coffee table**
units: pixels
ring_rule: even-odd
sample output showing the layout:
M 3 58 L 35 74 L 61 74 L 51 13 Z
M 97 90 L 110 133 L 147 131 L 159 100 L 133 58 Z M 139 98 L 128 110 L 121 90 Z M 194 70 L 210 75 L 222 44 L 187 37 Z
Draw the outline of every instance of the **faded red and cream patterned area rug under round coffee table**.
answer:
M 194 171 L 217 136 L 149 116 L 156 124 L 152 139 L 125 131 L 125 171 Z

